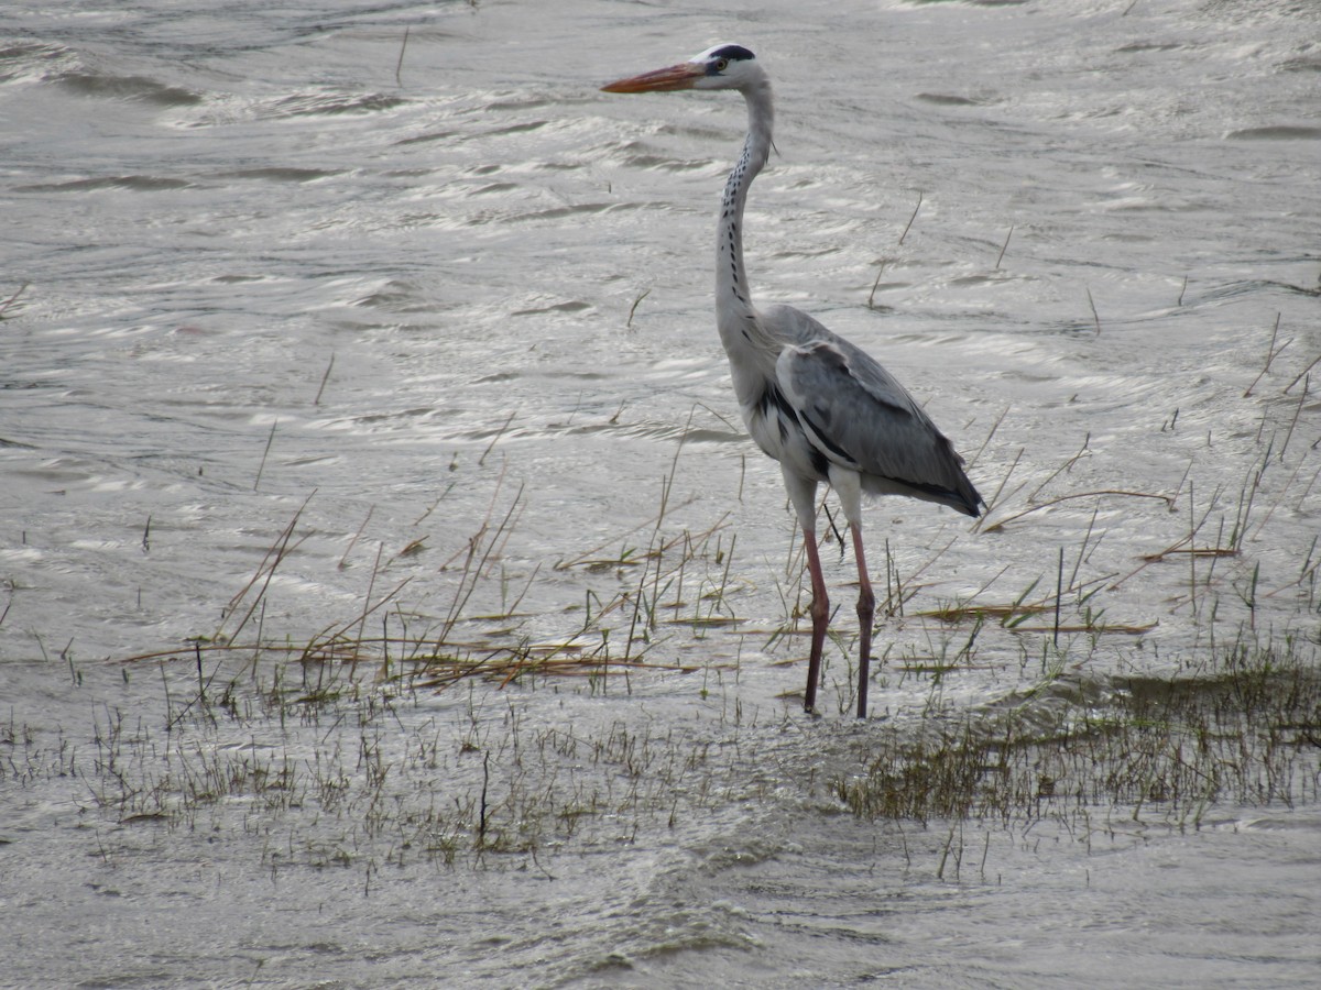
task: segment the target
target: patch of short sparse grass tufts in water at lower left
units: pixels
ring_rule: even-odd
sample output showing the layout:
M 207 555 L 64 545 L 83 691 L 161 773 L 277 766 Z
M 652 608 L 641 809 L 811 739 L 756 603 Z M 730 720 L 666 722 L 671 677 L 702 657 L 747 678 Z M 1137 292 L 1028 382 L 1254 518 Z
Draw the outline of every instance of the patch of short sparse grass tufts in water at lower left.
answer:
M 119 826 L 256 838 L 272 874 L 362 867 L 369 886 L 383 865 L 613 847 L 741 785 L 728 759 L 708 759 L 709 739 L 672 727 L 546 725 L 477 690 L 419 715 L 433 694 L 421 682 L 382 689 L 343 665 L 264 678 L 232 660 L 205 685 L 162 667 L 164 721 L 102 705 L 90 742 L 61 733 L 44 747 L 11 719 L 0 779 L 69 780 Z

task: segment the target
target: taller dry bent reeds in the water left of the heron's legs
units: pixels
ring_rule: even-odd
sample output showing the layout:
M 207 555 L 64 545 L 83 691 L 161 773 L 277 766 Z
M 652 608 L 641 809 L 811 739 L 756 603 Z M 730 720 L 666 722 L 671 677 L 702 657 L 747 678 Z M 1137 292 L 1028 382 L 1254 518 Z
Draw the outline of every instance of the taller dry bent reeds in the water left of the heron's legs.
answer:
M 613 546 L 600 544 L 553 565 L 557 572 L 613 576 L 617 583 L 602 595 L 589 582 L 583 603 L 564 612 L 571 619 L 576 616 L 576 622 L 567 624 L 560 636 L 534 640 L 520 632 L 522 622 L 532 616 L 519 609 L 540 565 L 514 587 L 507 576 L 497 573 L 524 506 L 522 487 L 502 502 L 503 480 L 502 473 L 486 516 L 440 565 L 450 597 L 439 611 L 406 607 L 402 594 L 413 576 L 402 579 L 390 576 L 394 564 L 417 558 L 427 550 L 424 536 L 391 556 L 378 548 L 361 607 L 347 619 L 328 624 L 300 643 L 267 636 L 267 601 L 276 574 L 306 539 L 301 529 L 313 498 L 309 496 L 266 550 L 252 577 L 225 606 L 219 627 L 192 640 L 188 649 L 199 659 L 247 656 L 254 668 L 262 657 L 296 663 L 304 669 L 374 668 L 382 682 L 407 680 L 419 689 L 440 689 L 469 678 L 506 686 L 530 676 L 588 677 L 604 688 L 604 678 L 626 680 L 630 671 L 642 667 L 695 671 L 691 664 L 650 663 L 646 655 L 667 631 L 686 630 L 700 639 L 709 630 L 741 622 L 732 606 L 737 540 L 725 532 L 725 516 L 700 532 L 666 525 L 666 513 L 672 508 L 671 469 L 662 482 L 659 508 L 650 520 Z M 370 517 L 369 511 L 338 569 L 345 569 Z M 476 602 L 490 603 L 490 591 L 497 585 L 499 606 L 474 611 Z M 128 661 L 162 661 L 177 655 L 177 649 L 152 651 Z

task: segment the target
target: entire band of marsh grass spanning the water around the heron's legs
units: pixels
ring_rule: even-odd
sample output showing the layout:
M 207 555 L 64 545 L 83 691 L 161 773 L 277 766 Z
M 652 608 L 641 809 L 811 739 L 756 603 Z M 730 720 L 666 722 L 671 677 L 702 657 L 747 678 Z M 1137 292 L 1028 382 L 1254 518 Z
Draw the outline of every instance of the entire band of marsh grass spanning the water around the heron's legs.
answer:
M 1291 401 L 1285 414 L 1296 408 Z M 1251 556 L 1272 513 L 1301 510 L 1316 484 L 1310 449 L 1296 445 L 1296 463 L 1281 470 L 1275 434 L 1287 429 L 1292 421 L 1263 428 L 1242 480 L 1209 498 L 1188 473 L 1173 495 L 1048 491 L 1091 455 L 1090 438 L 1015 488 L 1011 475 L 1028 469 L 1021 455 L 1005 458 L 997 520 L 984 533 L 1087 503 L 1090 520 L 1074 545 L 1050 548 L 1049 573 L 1004 566 L 945 601 L 933 576 L 962 537 L 904 552 L 886 541 L 877 680 L 908 701 L 847 733 L 803 723 L 793 706 L 777 709 L 775 725 L 745 714 L 745 645 L 766 665 L 802 661 L 802 545 L 786 540 L 777 566 L 744 558 L 731 516 L 678 524 L 690 504 L 676 495 L 682 444 L 643 521 L 544 568 L 507 566 L 524 494 L 503 471 L 485 515 L 448 556 L 431 549 L 428 533 L 399 550 L 361 550 L 369 510 L 332 554 L 337 573 L 371 561 L 361 598 L 292 640 L 272 634 L 267 615 L 283 611 L 272 605 L 275 578 L 312 539 L 309 498 L 213 632 L 122 663 L 132 704 L 100 704 L 90 733 L 54 739 L 12 715 L 0 723 L 0 783 L 69 781 L 81 808 L 122 828 L 259 838 L 272 875 L 361 867 L 365 894 L 383 866 L 419 861 L 517 861 L 551 876 L 539 858 L 548 850 L 655 840 L 786 785 L 808 792 L 807 807 L 934 824 L 947 833 L 938 875 L 947 861 L 958 870 L 964 824 L 1017 833 L 1052 820 L 1086 837 L 1120 822 L 1197 828 L 1225 805 L 1314 803 L 1321 550 L 1312 539 L 1283 570 Z M 1159 512 L 1152 549 L 1120 570 L 1094 562 L 1102 508 L 1120 517 L 1108 508 L 1116 503 L 1169 510 Z M 443 557 L 429 576 L 439 603 L 407 602 L 433 554 Z M 758 572 L 771 574 L 775 594 L 762 599 L 778 598 L 779 615 L 742 614 Z M 546 573 L 581 598 L 557 612 L 524 605 Z M 1181 612 L 1192 642 L 1172 652 L 1156 619 L 1112 614 L 1115 593 L 1140 579 L 1174 589 L 1162 607 Z M 827 676 L 840 713 L 852 709 L 855 651 L 836 628 Z M 59 656 L 81 685 L 70 649 Z M 995 700 L 958 693 L 974 671 L 1003 678 Z M 691 692 L 704 721 L 641 718 L 622 704 L 617 718 L 577 723 L 567 714 L 565 705 L 606 694 L 613 704 L 643 675 L 651 685 L 672 678 L 671 694 Z M 112 843 L 103 855 L 114 857 Z

